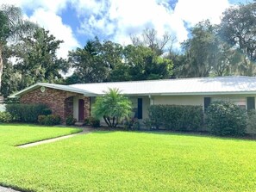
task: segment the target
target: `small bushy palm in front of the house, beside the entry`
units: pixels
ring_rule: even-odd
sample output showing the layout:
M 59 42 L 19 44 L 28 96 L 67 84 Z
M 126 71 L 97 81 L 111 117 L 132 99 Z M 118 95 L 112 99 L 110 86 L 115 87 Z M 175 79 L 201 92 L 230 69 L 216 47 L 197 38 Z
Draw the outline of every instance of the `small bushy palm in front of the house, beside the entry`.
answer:
M 92 115 L 97 119 L 103 118 L 110 128 L 115 128 L 131 114 L 131 104 L 127 97 L 121 95 L 120 90 L 109 89 L 104 96 L 97 97 L 92 106 Z

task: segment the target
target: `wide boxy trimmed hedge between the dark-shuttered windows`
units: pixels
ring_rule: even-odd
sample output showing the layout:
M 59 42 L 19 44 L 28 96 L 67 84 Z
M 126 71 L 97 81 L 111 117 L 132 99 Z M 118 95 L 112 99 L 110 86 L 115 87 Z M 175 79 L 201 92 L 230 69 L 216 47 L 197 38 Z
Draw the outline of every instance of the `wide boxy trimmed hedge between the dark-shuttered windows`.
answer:
M 203 107 L 190 105 L 152 105 L 149 121 L 155 128 L 175 131 L 197 131 L 203 126 Z

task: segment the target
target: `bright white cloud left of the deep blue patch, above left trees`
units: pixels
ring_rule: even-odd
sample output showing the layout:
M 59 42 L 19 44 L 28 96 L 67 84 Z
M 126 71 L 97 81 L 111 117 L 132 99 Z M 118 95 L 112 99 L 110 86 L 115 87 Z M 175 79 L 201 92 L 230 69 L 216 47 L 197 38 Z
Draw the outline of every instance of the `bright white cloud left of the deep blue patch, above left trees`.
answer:
M 53 34 L 57 40 L 64 40 L 58 50 L 59 57 L 66 58 L 69 50 L 79 46 L 78 40 L 72 34 L 72 28 L 63 24 L 59 15 L 44 9 L 36 9 L 29 19 L 49 30 L 50 34 Z

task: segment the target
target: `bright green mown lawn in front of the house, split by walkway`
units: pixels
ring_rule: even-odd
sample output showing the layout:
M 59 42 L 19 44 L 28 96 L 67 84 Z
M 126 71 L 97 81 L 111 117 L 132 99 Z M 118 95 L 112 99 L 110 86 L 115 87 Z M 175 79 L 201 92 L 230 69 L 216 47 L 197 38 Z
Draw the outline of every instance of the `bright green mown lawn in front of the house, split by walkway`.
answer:
M 0 125 L 0 184 L 27 191 L 255 191 L 256 141 Z

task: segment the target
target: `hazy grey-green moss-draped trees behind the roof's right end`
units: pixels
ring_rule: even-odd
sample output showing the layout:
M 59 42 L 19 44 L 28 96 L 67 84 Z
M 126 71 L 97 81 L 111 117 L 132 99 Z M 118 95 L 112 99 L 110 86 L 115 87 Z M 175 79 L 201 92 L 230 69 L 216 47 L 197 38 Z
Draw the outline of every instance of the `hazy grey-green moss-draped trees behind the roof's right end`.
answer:
M 209 77 L 256 74 L 256 2 L 230 7 L 219 25 L 208 20 L 190 28 L 183 53 L 169 53 L 174 77 Z

